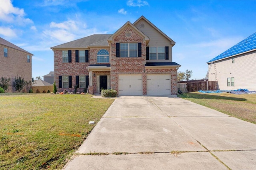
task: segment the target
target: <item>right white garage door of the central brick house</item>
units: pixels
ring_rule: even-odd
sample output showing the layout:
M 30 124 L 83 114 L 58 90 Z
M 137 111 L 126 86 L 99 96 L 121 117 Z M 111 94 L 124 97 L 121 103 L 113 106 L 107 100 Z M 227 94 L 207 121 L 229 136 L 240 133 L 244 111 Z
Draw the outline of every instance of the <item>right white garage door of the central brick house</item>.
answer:
M 147 74 L 147 95 L 170 94 L 170 82 L 170 74 Z

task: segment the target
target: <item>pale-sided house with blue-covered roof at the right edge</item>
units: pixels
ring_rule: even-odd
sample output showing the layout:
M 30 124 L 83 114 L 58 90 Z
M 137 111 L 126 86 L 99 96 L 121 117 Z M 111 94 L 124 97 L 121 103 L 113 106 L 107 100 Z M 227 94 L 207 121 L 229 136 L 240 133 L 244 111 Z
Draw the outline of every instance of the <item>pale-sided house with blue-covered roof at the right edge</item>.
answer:
M 256 90 L 256 33 L 207 62 L 220 90 Z

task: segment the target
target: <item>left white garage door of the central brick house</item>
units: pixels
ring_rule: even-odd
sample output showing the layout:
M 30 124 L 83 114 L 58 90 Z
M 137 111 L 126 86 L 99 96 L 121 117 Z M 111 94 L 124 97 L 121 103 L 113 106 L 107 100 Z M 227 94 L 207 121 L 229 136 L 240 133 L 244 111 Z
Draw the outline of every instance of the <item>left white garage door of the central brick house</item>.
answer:
M 142 74 L 119 74 L 118 95 L 142 95 Z

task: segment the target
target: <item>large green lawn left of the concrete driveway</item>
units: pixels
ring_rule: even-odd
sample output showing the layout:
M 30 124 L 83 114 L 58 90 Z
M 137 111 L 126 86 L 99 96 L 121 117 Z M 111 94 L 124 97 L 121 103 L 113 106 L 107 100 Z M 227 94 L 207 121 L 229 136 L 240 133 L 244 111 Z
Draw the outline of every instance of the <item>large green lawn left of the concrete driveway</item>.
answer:
M 0 169 L 61 169 L 114 99 L 0 95 Z

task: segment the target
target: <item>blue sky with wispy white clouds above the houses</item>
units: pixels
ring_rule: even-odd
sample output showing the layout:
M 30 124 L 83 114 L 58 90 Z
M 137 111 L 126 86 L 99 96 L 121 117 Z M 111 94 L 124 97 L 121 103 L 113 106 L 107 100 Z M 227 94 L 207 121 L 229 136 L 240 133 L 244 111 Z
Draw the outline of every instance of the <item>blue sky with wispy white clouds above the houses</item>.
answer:
M 201 79 L 206 62 L 256 32 L 255 9 L 256 0 L 0 0 L 0 36 L 34 54 L 32 77 L 42 77 L 54 70 L 50 47 L 143 15 L 176 42 L 178 71 Z

